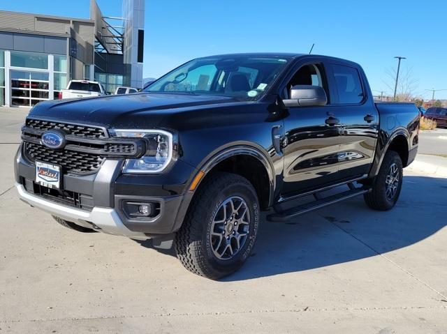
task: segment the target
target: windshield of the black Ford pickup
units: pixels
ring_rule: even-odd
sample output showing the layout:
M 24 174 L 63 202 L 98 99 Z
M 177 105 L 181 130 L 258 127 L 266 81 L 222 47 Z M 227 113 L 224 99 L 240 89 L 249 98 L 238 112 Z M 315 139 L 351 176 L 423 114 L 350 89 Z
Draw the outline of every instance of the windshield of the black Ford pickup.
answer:
M 195 59 L 149 84 L 144 91 L 214 94 L 256 100 L 270 88 L 288 60 L 274 56 Z

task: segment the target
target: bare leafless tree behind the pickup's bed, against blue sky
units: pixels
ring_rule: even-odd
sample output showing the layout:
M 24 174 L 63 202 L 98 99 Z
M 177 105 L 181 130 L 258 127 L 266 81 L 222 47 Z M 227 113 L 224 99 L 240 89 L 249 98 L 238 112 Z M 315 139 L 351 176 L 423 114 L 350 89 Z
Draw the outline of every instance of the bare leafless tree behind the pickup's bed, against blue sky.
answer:
M 388 68 L 386 70 L 386 79 L 383 83 L 386 84 L 388 89 L 393 92 L 396 80 L 396 68 Z M 398 101 L 411 101 L 416 95 L 418 89 L 419 80 L 413 75 L 413 68 L 402 68 L 399 73 L 399 82 L 397 82 L 396 99 Z

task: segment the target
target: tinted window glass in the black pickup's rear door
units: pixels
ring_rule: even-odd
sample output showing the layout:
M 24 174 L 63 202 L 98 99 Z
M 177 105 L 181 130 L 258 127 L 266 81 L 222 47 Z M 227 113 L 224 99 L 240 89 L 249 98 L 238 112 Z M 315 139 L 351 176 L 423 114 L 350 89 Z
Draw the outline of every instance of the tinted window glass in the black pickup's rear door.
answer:
M 338 104 L 360 103 L 363 100 L 363 89 L 358 70 L 343 65 L 332 65 L 338 93 Z

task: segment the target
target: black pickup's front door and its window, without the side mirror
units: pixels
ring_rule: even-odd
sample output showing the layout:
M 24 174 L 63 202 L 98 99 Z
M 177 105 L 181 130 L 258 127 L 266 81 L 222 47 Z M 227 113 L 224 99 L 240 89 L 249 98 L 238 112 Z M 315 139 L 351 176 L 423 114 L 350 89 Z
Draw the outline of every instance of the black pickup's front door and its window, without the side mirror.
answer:
M 328 98 L 322 63 L 307 63 L 293 75 L 285 88 L 298 84 L 322 86 Z M 324 107 L 291 107 L 284 119 L 284 179 L 282 197 L 321 188 L 335 182 L 338 175 L 339 135 L 341 127 L 331 105 Z

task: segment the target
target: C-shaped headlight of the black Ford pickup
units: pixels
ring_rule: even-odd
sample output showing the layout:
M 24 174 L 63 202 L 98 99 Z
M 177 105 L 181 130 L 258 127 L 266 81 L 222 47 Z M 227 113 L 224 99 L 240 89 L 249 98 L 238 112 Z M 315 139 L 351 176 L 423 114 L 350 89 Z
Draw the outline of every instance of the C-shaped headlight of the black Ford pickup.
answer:
M 111 137 L 144 138 L 146 153 L 139 159 L 127 159 L 123 173 L 159 173 L 173 158 L 173 134 L 163 130 L 111 129 Z

